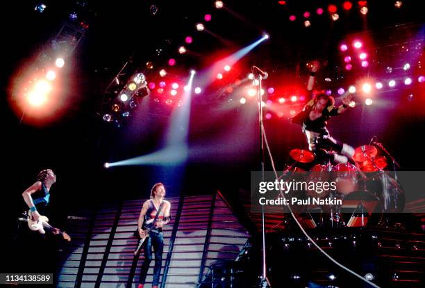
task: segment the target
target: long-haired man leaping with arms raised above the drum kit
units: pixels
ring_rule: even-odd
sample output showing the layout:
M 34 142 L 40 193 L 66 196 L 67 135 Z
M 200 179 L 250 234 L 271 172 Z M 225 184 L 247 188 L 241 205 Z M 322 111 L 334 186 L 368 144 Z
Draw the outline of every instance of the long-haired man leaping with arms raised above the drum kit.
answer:
M 319 62 L 313 61 L 310 66 L 311 73 L 308 79 L 307 90 L 313 90 L 315 74 L 319 69 Z M 349 107 L 352 95 L 347 95 L 342 99 L 342 105 L 335 107 L 335 99 L 327 95 L 324 91 L 313 93 L 313 99 L 304 106 L 303 110 L 292 118 L 292 123 L 302 126 L 302 131 L 306 134 L 308 149 L 315 152 L 319 163 L 328 161 L 337 163 L 347 163 L 352 159 L 354 149 L 350 145 L 336 141 L 326 129 L 326 121 L 331 116 L 344 113 Z M 334 153 L 330 151 L 334 151 Z M 348 157 L 348 158 L 347 158 Z

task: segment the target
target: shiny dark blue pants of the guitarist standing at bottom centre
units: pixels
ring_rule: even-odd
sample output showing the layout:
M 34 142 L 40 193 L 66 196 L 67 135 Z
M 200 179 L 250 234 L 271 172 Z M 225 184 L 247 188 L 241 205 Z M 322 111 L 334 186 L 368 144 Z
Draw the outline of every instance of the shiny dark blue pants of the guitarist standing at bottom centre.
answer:
M 147 271 L 152 261 L 152 246 L 155 252 L 155 268 L 153 268 L 152 286 L 158 286 L 159 277 L 161 273 L 161 266 L 163 264 L 163 250 L 164 250 L 164 234 L 150 232 L 149 237 L 144 241 L 144 262 L 142 270 L 140 271 L 139 283 L 144 284 L 146 280 Z

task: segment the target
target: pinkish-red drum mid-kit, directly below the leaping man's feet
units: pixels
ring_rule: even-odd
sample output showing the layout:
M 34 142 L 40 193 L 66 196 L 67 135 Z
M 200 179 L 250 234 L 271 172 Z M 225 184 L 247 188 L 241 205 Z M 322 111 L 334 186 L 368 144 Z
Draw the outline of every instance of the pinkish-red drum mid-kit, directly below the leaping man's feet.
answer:
M 357 187 L 357 168 L 351 163 L 339 163 L 332 169 L 337 192 L 348 195 Z

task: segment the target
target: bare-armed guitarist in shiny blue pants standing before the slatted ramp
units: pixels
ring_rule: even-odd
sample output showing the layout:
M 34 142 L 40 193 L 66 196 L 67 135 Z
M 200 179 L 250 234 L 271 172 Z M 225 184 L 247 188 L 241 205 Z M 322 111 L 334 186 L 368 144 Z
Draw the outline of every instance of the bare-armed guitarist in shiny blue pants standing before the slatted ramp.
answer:
M 151 189 L 151 199 L 143 203 L 142 211 L 140 211 L 138 221 L 138 231 L 141 238 L 147 237 L 144 241 L 144 262 L 140 271 L 138 288 L 143 288 L 146 280 L 149 264 L 152 260 L 152 246 L 155 252 L 155 267 L 153 269 L 152 288 L 158 288 L 161 266 L 163 261 L 164 234 L 163 227 L 169 223 L 170 203 L 164 200 L 165 187 L 162 183 L 153 185 Z M 160 213 L 156 216 L 157 211 Z M 156 221 L 153 220 L 156 218 Z M 149 234 L 146 234 L 145 229 L 152 227 Z

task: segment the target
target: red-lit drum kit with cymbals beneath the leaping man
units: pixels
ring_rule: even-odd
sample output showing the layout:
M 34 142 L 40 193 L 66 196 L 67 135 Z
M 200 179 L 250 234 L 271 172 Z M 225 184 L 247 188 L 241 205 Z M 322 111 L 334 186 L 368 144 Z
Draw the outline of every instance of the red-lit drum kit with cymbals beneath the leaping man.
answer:
M 375 146 L 376 145 L 376 146 Z M 386 156 L 378 155 L 380 147 Z M 313 163 L 315 154 L 309 150 L 293 149 L 290 157 L 295 162 L 283 171 L 288 175 L 303 175 L 306 182 L 334 182 L 336 189 L 324 193 L 306 191 L 307 197 L 320 199 L 339 199 L 338 205 L 307 205 L 305 213 L 319 212 L 319 225 L 330 223 L 332 227 L 362 227 L 365 225 L 384 225 L 385 212 L 399 212 L 404 208 L 403 189 L 397 182 L 397 161 L 385 150 L 381 143 L 357 147 L 353 161 L 347 163 L 317 163 L 310 172 L 299 168 L 299 163 Z M 388 170 L 390 159 L 393 171 Z M 372 215 L 374 214 L 374 216 Z M 378 216 L 376 216 L 378 215 Z M 313 219 L 314 217 L 311 216 Z M 370 221 L 372 219 L 372 221 Z M 376 223 L 374 223 L 376 221 Z M 367 224 L 369 223 L 369 224 Z

